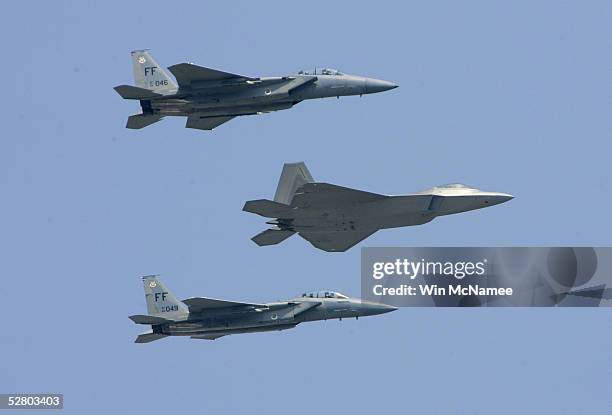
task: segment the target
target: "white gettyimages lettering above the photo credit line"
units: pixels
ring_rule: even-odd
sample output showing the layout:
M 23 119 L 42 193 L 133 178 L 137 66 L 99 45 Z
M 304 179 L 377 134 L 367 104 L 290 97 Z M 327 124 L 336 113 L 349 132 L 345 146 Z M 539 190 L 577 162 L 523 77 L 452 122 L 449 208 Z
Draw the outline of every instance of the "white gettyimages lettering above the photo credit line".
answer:
M 411 261 L 397 258 L 395 261 L 375 262 L 372 264 L 372 278 L 400 276 L 414 280 L 418 276 L 447 276 L 461 280 L 465 277 L 482 276 L 487 273 L 488 260 L 482 261 Z

